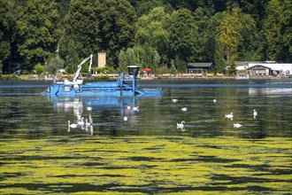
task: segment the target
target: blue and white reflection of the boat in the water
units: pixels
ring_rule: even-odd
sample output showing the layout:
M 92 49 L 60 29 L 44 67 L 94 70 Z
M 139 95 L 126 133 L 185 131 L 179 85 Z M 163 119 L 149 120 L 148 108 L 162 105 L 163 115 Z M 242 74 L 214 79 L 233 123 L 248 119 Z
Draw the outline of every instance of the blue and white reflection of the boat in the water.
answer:
M 116 134 L 119 127 L 130 125 L 131 128 L 137 127 L 136 115 L 139 113 L 139 98 L 119 98 L 119 97 L 48 97 L 52 102 L 55 112 L 64 116 L 73 113 L 74 118 L 68 119 L 68 132 L 83 130 L 90 135 L 96 131 L 103 131 L 105 127 L 108 131 Z M 158 99 L 158 98 L 151 98 Z M 115 115 L 114 120 L 108 119 L 110 115 Z M 98 120 L 99 119 L 99 120 Z M 96 121 L 97 120 L 97 121 Z

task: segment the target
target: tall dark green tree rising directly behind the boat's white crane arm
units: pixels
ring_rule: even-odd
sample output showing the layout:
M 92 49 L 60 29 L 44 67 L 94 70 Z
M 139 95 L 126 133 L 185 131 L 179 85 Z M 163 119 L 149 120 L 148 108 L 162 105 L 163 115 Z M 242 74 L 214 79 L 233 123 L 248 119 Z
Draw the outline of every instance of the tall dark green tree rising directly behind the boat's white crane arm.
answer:
M 74 53 L 79 58 L 86 58 L 100 49 L 100 6 L 99 1 L 95 0 L 71 1 L 65 17 L 65 33 L 60 43 L 60 50 L 65 58 L 76 58 Z

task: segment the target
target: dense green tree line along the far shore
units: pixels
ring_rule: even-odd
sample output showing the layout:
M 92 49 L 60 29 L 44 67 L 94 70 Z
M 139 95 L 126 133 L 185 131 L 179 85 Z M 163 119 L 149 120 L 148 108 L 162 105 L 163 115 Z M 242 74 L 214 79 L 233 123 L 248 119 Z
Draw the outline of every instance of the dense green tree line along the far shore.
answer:
M 291 62 L 291 10 L 290 0 L 0 0 L 0 69 L 72 73 L 106 51 L 118 71 L 213 62 L 232 74 L 239 60 Z

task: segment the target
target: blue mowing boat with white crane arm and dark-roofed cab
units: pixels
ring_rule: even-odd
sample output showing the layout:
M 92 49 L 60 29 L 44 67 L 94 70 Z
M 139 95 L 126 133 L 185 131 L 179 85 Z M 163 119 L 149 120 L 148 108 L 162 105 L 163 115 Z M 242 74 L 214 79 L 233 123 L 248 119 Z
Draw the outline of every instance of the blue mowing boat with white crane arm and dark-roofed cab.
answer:
M 127 66 L 127 73 L 120 73 L 116 82 L 87 82 L 79 79 L 82 65 L 90 59 L 89 69 L 92 65 L 92 55 L 85 58 L 78 66 L 73 81 L 55 82 L 50 88 L 44 90 L 42 95 L 48 96 L 96 96 L 96 97 L 133 97 L 133 96 L 162 96 L 163 90 L 140 89 L 137 85 L 139 66 Z

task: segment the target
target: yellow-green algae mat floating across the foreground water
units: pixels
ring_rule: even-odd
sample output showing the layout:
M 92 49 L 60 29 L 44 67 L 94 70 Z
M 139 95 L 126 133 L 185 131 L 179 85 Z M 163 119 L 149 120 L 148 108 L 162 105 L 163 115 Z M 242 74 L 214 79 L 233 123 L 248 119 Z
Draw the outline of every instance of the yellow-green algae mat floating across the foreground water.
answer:
M 291 138 L 1 139 L 0 194 L 291 194 Z

